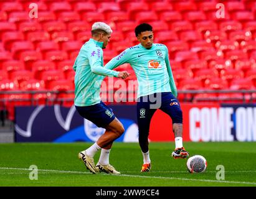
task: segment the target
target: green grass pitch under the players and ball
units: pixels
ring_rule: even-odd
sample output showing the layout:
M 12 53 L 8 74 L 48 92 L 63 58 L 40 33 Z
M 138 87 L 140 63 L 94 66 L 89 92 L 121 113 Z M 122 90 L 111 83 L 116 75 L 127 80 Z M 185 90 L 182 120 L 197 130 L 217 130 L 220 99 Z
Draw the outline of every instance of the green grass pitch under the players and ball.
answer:
M 200 154 L 206 158 L 208 167 L 202 174 L 189 174 L 186 159 L 170 157 L 174 142 L 149 143 L 152 169 L 148 173 L 140 172 L 143 161 L 138 143 L 115 142 L 110 164 L 121 175 L 91 174 L 86 170 L 77 155 L 91 144 L 0 144 L 0 186 L 256 186 L 255 142 L 184 142 L 190 156 Z M 95 156 L 95 164 L 99 155 Z M 31 165 L 37 166 L 37 180 L 29 178 Z M 224 166 L 224 180 L 216 178 L 217 165 Z

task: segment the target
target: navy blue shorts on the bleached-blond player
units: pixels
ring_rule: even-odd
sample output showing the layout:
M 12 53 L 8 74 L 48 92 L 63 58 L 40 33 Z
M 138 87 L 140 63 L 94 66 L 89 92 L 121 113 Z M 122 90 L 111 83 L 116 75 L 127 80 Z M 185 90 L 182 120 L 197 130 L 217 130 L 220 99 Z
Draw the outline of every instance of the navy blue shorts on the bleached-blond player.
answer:
M 106 127 L 115 119 L 113 110 L 102 101 L 92 106 L 75 106 L 80 116 L 90 120 L 98 127 Z

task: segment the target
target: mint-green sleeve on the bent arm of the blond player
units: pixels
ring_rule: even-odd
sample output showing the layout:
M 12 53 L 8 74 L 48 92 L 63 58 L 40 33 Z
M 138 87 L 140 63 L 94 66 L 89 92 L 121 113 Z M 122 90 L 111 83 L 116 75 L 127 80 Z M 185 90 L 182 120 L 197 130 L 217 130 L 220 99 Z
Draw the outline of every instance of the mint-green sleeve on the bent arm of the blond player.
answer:
M 103 50 L 100 48 L 93 48 L 88 50 L 88 60 L 93 73 L 103 76 L 118 76 L 119 72 L 103 67 Z

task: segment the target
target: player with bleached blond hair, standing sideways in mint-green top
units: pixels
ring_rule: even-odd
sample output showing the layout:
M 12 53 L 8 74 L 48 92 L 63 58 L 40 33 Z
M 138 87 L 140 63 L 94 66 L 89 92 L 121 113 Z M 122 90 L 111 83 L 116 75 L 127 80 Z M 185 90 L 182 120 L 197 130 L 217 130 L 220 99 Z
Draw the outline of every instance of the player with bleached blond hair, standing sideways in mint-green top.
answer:
M 80 160 L 93 174 L 97 172 L 120 174 L 109 164 L 109 155 L 113 141 L 120 137 L 125 130 L 112 109 L 101 101 L 100 85 L 105 76 L 125 79 L 130 74 L 103 67 L 102 49 L 110 41 L 111 33 L 109 25 L 95 22 L 92 25 L 92 38 L 82 46 L 73 65 L 75 70 L 75 108 L 83 118 L 106 129 L 97 142 L 78 154 Z M 102 150 L 100 159 L 95 166 L 93 156 L 100 149 Z

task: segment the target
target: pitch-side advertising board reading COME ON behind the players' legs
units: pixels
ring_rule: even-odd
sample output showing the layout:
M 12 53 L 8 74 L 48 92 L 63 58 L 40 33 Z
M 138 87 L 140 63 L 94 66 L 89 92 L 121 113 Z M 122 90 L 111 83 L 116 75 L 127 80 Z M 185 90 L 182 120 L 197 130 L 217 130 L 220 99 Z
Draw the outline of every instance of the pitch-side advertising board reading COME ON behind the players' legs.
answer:
M 203 95 L 208 92 L 200 91 L 197 94 Z M 179 91 L 179 93 L 179 95 L 194 95 L 196 91 L 187 93 Z M 192 103 L 182 101 L 183 140 L 256 141 L 256 103 L 254 99 L 250 103 L 248 98 L 248 96 L 253 97 L 255 93 L 256 91 L 241 91 L 240 94 L 245 97 L 245 102 L 240 101 L 240 103 L 231 103 L 232 101 L 220 103 L 214 100 L 201 102 L 194 100 Z M 2 99 L 1 101 L 6 103 Z M 115 115 L 125 127 L 125 133 L 117 141 L 138 142 L 136 104 L 110 103 L 109 106 L 113 108 Z M 14 118 L 16 142 L 94 142 L 105 131 L 80 117 L 73 105 L 15 106 Z M 171 129 L 171 118 L 158 110 L 151 121 L 149 140 L 174 141 Z

